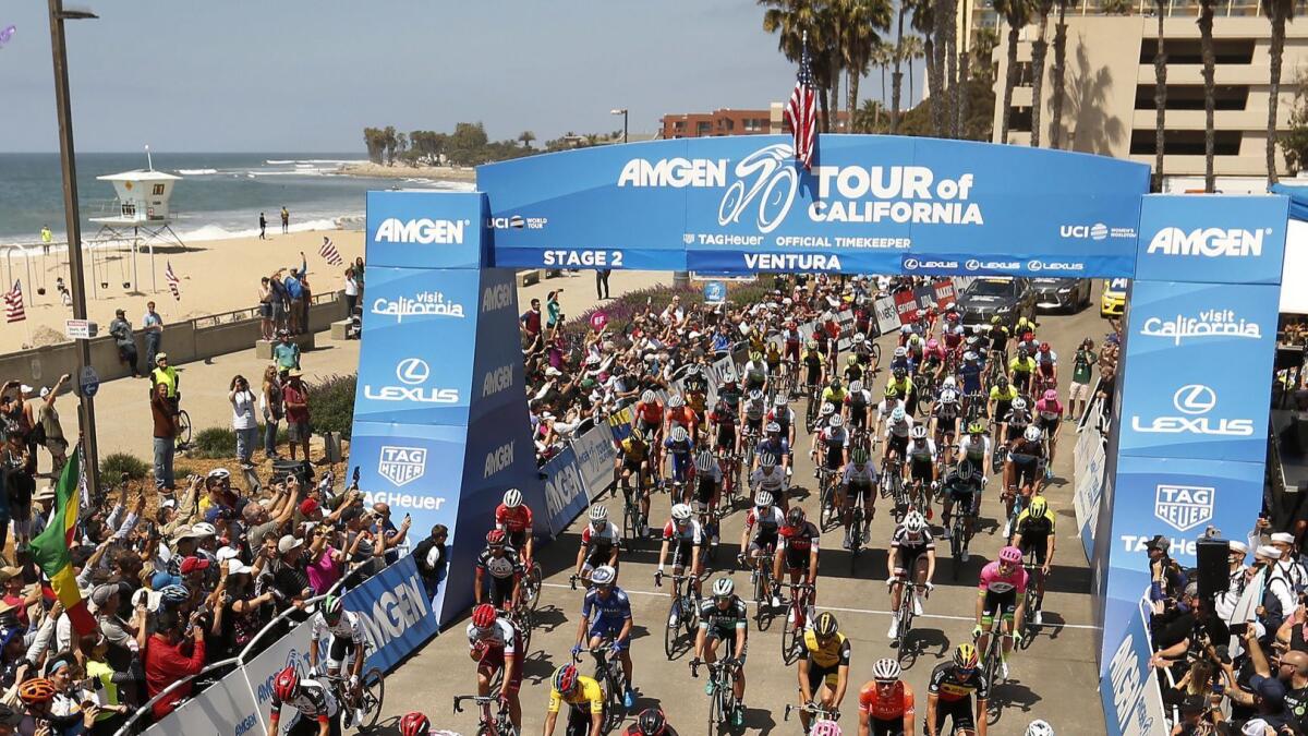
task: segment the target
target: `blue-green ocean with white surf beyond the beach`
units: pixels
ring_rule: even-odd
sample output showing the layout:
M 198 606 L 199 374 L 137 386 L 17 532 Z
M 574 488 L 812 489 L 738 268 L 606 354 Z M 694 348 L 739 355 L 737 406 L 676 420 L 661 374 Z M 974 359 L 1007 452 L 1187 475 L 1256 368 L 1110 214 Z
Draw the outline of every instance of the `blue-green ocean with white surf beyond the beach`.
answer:
M 183 241 L 243 237 L 259 232 L 259 212 L 280 228 L 283 207 L 293 230 L 361 229 L 368 190 L 432 187 L 471 190 L 464 182 L 336 175 L 358 153 L 153 153 L 154 169 L 181 175 L 173 190 L 173 229 Z M 114 187 L 95 177 L 146 168 L 145 153 L 78 153 L 77 195 L 82 238 L 107 215 Z M 0 153 L 0 245 L 38 242 L 42 225 L 64 237 L 63 174 L 58 153 Z

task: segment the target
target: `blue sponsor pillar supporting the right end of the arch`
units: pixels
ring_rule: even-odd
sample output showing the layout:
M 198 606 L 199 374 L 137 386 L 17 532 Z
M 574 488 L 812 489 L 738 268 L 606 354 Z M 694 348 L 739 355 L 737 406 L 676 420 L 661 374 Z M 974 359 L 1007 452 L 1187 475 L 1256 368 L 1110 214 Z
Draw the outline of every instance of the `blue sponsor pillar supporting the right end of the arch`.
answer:
M 1144 198 L 1092 561 L 1109 733 L 1143 707 L 1121 673 L 1146 542 L 1193 566 L 1209 525 L 1243 538 L 1262 504 L 1287 217 L 1283 196 Z

